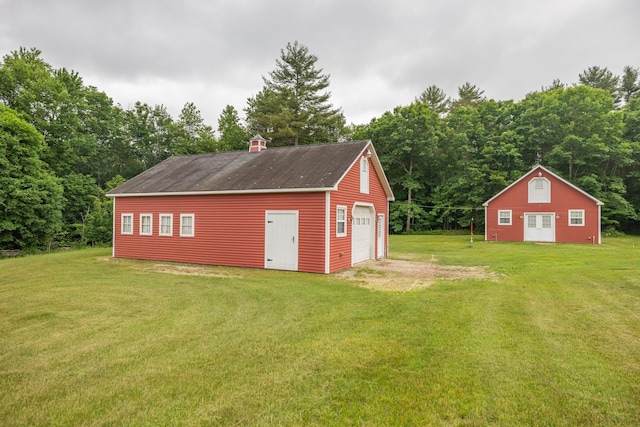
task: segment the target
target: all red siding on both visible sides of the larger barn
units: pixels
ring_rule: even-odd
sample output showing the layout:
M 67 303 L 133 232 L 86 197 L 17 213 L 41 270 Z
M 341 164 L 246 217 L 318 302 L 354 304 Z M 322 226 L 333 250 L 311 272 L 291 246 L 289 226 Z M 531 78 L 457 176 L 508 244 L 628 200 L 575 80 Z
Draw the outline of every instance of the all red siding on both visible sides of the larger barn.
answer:
M 356 205 L 372 206 L 385 217 L 387 247 L 389 202 L 383 183 L 369 162 L 369 193 L 360 193 L 360 158 L 345 174 L 336 191 L 329 193 L 228 194 L 191 196 L 117 197 L 115 200 L 114 256 L 118 258 L 175 261 L 237 267 L 264 268 L 265 211 L 298 211 L 298 271 L 325 273 L 329 247 L 329 272 L 352 265 L 352 229 L 336 237 L 336 207 L 346 206 L 350 218 Z M 121 234 L 121 214 L 133 214 L 133 234 Z M 140 235 L 140 214 L 153 215 L 153 235 Z M 173 235 L 160 236 L 160 214 L 173 215 Z M 194 237 L 180 237 L 180 214 L 194 214 Z M 377 227 L 373 218 L 374 230 Z M 329 244 L 325 225 L 329 225 Z M 374 254 L 377 256 L 377 230 Z M 385 253 L 386 256 L 386 253 Z

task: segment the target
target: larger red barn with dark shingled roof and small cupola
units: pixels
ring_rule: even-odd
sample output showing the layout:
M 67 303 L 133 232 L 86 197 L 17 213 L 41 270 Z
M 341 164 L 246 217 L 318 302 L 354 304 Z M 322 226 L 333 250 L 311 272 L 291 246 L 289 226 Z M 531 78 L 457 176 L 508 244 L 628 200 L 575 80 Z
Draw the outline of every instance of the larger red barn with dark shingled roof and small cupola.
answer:
M 171 157 L 107 194 L 113 256 L 332 273 L 386 257 L 393 193 L 371 141 Z

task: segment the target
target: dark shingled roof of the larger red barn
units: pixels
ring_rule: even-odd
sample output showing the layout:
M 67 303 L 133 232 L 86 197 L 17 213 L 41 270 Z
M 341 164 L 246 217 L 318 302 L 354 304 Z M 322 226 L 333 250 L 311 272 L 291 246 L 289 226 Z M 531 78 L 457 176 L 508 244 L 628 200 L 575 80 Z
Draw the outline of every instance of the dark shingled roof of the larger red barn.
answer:
M 107 193 L 140 196 L 334 189 L 371 141 L 170 157 Z M 393 195 L 377 156 L 373 166 Z

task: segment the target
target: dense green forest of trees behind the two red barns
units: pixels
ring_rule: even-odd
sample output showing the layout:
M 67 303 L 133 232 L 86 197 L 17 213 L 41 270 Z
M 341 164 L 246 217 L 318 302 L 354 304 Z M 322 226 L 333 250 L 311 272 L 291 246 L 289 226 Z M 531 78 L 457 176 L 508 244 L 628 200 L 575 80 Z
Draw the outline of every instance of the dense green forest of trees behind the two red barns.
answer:
M 392 185 L 393 233 L 484 224 L 482 203 L 537 162 L 604 202 L 605 235 L 640 233 L 640 72 L 592 66 L 522 100 L 487 99 L 465 82 L 436 85 L 369 123 L 347 124 L 330 76 L 298 42 L 264 86 L 217 126 L 186 103 L 178 117 L 143 101 L 123 108 L 36 48 L 0 62 L 0 249 L 109 245 L 105 193 L 170 156 L 370 139 Z

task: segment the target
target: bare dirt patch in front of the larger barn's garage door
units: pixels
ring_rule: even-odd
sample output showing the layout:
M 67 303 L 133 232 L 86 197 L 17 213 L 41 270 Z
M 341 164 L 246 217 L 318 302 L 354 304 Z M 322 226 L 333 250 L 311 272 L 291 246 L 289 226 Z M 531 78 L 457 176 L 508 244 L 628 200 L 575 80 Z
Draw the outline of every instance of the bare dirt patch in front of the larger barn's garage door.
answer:
M 386 259 L 367 261 L 336 273 L 337 277 L 355 280 L 360 286 L 379 291 L 407 292 L 424 289 L 436 280 L 497 280 L 488 267 L 439 265 L 435 257 L 426 262 Z

